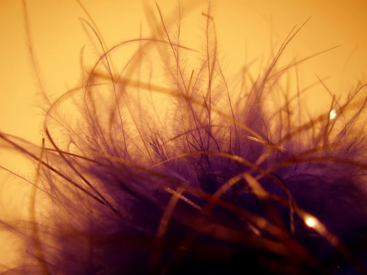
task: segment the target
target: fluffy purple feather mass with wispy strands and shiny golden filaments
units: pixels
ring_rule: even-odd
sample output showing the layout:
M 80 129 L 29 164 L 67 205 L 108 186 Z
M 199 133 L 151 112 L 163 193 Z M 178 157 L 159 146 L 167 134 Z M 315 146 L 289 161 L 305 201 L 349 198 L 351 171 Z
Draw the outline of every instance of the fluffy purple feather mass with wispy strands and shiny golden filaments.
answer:
M 236 86 L 220 65 L 210 4 L 199 53 L 180 41 L 180 4 L 177 14 L 171 24 L 157 5 L 153 37 L 110 49 L 83 20 L 100 58 L 81 61 L 79 87 L 45 101 L 43 146 L 0 133 L 34 160 L 34 198 L 50 206 L 41 214 L 34 200 L 31 221 L 1 222 L 26 248 L 5 274 L 364 273 L 366 85 L 305 118 L 305 90 L 279 88 L 303 60 L 277 66 L 300 28 Z M 112 53 L 133 43 L 142 45 L 117 71 Z M 192 52 L 202 58 L 194 69 Z M 161 85 L 140 77 L 153 53 Z M 269 108 L 271 94 L 283 105 Z

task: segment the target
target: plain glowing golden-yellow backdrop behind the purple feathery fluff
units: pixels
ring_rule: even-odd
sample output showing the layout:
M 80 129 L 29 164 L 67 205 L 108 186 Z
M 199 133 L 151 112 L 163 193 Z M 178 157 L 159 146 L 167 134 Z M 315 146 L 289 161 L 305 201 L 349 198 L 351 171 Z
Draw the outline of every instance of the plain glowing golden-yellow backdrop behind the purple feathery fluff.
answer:
M 146 2 L 154 8 L 154 1 Z M 183 38 L 186 46 L 199 47 L 205 41 L 200 37 L 205 28 L 201 12 L 207 11 L 207 2 L 181 2 L 188 6 L 201 3 L 185 18 Z M 82 0 L 82 3 L 109 47 L 139 37 L 141 28 L 143 36 L 149 35 L 140 0 Z M 167 18 L 175 12 L 175 0 L 157 0 L 157 3 Z M 330 76 L 325 83 L 332 93 L 346 95 L 357 80 L 367 79 L 367 0 L 214 0 L 212 3 L 227 74 L 236 73 L 244 64 L 246 45 L 248 61 L 263 55 L 265 63 L 271 42 L 278 50 L 294 25 L 299 26 L 312 16 L 283 55 L 284 63 L 337 45 L 341 47 L 299 66 L 300 87 L 315 82 L 315 74 L 320 78 Z M 97 58 L 78 19 L 87 16 L 76 0 L 26 0 L 26 5 L 41 81 L 48 94 L 60 95 L 78 84 L 81 48 L 86 46 L 88 58 Z M 0 26 L 0 131 L 40 144 L 42 112 L 37 108 L 38 86 L 27 49 L 21 0 L 0 0 Z M 123 60 L 124 51 L 119 51 L 119 55 Z M 260 61 L 254 70 L 259 66 Z M 310 91 L 307 98 L 304 102 L 311 109 L 329 106 L 331 102 L 321 86 Z M 29 171 L 26 162 L 13 152 L 1 150 L 0 161 L 23 175 Z M 0 172 L 0 218 L 26 218 L 28 194 L 24 182 Z M 0 232 L 0 247 L 6 237 Z M 0 259 L 5 254 L 11 255 L 9 252 L 14 248 L 8 239 L 6 243 L 8 246 L 0 248 Z M 0 260 L 0 264 L 5 262 Z

